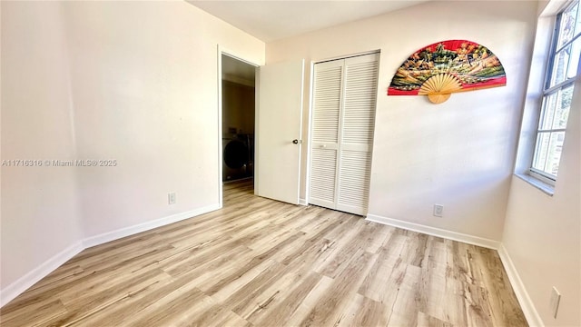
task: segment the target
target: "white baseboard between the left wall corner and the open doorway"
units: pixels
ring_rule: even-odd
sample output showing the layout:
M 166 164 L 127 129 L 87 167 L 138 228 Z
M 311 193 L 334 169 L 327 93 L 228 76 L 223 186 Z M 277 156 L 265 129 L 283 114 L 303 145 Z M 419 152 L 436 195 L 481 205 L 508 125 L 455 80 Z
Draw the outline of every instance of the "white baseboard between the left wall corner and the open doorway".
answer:
M 145 223 L 138 223 L 138 224 L 133 225 L 133 226 L 124 227 L 124 228 L 118 229 L 116 231 L 102 233 L 99 235 L 94 235 L 94 236 L 85 238 L 83 240 L 83 246 L 85 249 L 87 249 L 87 248 L 90 248 L 90 247 L 93 247 L 93 246 L 96 246 L 99 244 L 118 240 L 120 238 L 130 236 L 130 235 L 133 235 L 136 233 L 142 233 L 145 231 L 149 231 L 153 228 L 161 227 L 161 226 L 164 226 L 166 224 L 176 223 L 176 222 L 182 221 L 184 219 L 192 218 L 192 217 L 195 217 L 195 216 L 203 214 L 203 213 L 210 213 L 210 212 L 212 212 L 214 210 L 218 210 L 218 209 L 220 209 L 220 204 L 216 203 L 216 204 L 208 205 L 208 206 L 205 206 L 205 207 L 202 207 L 202 208 L 199 208 L 196 210 L 192 210 L 189 212 L 176 213 L 176 214 L 172 214 L 171 216 L 159 218 L 159 219 L 156 219 L 153 221 L 149 221 L 149 222 L 145 222 Z

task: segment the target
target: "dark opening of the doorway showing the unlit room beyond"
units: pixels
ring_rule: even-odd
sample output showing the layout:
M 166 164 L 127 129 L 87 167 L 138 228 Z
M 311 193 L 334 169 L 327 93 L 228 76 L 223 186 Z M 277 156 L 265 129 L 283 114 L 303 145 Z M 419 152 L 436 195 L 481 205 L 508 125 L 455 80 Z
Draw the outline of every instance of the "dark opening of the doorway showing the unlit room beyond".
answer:
M 255 66 L 222 55 L 222 184 L 253 187 Z

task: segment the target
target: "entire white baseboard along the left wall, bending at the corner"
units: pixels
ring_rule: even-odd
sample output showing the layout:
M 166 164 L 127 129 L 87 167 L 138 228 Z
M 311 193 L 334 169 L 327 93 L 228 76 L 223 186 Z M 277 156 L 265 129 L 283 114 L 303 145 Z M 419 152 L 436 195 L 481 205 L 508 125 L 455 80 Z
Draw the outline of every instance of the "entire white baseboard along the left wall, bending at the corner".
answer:
M 133 235 L 135 233 L 149 231 L 153 228 L 161 227 L 166 224 L 176 223 L 203 213 L 210 213 L 219 208 L 220 205 L 216 203 L 189 212 L 172 214 L 171 216 L 156 219 L 151 222 L 139 223 L 133 226 L 118 229 L 113 232 L 102 233 L 78 241 L 77 243 L 74 243 L 73 245 L 64 249 L 62 252 L 57 253 L 38 267 L 34 268 L 31 272 L 26 273 L 17 281 L 6 286 L 5 289 L 0 290 L 0 308 L 3 307 L 6 303 L 14 300 L 16 296 L 25 292 L 28 288 L 34 285 L 34 283 L 46 277 L 46 275 L 53 272 L 56 268 L 63 265 L 63 263 L 66 263 L 76 254 L 80 253 L 86 248 L 111 242 L 125 236 Z

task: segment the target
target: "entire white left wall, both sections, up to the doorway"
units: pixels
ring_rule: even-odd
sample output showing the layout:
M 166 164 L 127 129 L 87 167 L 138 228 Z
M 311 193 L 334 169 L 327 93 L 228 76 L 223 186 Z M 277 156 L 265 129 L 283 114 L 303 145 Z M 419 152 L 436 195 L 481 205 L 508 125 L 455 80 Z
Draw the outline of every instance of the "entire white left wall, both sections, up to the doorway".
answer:
M 1 5 L 2 159 L 117 161 L 2 168 L 3 291 L 83 239 L 219 205 L 218 45 L 263 64 L 263 42 L 185 2 Z

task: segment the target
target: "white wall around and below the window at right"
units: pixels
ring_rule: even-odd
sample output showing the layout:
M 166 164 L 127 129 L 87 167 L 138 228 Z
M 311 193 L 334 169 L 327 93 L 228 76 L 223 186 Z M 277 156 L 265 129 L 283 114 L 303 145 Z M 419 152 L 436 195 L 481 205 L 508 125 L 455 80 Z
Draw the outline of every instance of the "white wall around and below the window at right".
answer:
M 539 5 L 545 8 L 547 2 Z M 551 4 L 554 9 L 559 4 Z M 547 8 L 550 11 L 551 8 Z M 547 21 L 548 20 L 548 21 Z M 550 35 L 553 22 L 541 17 L 539 35 Z M 535 57 L 544 57 L 543 45 L 536 45 Z M 521 130 L 517 167 L 529 163 L 527 146 L 536 130 L 531 118 L 537 113 L 538 94 L 535 76 L 542 75 L 541 64 L 531 69 L 531 84 L 527 94 L 526 113 Z M 536 88 L 537 86 L 537 88 Z M 555 193 L 551 196 L 513 177 L 507 206 L 507 218 L 502 243 L 514 265 L 534 310 L 547 326 L 581 325 L 581 81 L 575 85 L 575 95 L 567 123 L 566 140 L 559 165 Z M 534 142 L 534 139 L 532 139 Z M 549 309 L 553 286 L 561 292 L 556 319 Z

